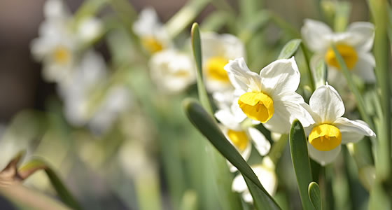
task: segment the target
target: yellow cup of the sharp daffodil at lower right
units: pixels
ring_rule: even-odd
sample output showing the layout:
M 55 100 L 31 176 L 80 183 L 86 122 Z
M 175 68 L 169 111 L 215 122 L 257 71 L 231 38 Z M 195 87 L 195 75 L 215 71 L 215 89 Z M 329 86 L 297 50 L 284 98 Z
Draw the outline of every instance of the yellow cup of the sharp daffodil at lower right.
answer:
M 318 151 L 331 151 L 342 142 L 339 129 L 330 124 L 321 124 L 313 128 L 309 134 L 309 143 Z

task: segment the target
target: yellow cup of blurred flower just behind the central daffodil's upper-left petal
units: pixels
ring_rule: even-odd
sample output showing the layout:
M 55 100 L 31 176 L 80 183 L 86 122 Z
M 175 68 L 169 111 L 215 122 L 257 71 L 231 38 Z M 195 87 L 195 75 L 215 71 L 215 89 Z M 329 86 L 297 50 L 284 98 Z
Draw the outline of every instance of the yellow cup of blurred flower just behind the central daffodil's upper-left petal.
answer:
M 206 63 L 207 76 L 214 80 L 228 82 L 228 72 L 223 69 L 226 64 L 228 64 L 228 59 L 225 59 L 224 57 L 211 57 Z

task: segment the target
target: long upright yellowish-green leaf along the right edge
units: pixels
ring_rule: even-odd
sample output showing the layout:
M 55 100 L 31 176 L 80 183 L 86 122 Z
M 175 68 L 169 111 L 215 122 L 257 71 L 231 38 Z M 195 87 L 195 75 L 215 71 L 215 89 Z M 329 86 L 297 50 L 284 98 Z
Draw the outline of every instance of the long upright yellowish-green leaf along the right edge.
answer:
M 376 59 L 377 87 L 380 90 L 379 101 L 381 102 L 383 118 L 380 123 L 380 132 L 377 133 L 377 179 L 391 181 L 392 179 L 392 134 L 391 134 L 391 41 L 388 41 L 387 29 L 391 27 L 388 18 L 388 1 L 370 0 L 370 11 L 374 19 L 374 57 Z

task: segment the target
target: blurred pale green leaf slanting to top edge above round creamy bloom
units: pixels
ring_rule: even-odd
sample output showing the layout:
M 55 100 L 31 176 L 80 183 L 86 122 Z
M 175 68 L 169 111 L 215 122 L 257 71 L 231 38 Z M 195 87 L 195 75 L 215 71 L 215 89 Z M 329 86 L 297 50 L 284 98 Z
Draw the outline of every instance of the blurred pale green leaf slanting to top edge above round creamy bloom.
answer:
M 207 6 L 209 0 L 188 1 L 165 25 L 169 37 L 175 38 L 183 31 L 192 20 Z

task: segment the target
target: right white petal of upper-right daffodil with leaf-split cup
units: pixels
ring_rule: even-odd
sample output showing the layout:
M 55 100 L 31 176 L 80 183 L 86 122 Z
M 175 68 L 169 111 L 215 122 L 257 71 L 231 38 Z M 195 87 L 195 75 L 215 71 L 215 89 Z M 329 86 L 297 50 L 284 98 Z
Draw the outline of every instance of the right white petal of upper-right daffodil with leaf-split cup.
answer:
M 354 34 L 349 43 L 351 43 L 358 51 L 368 52 L 372 49 L 374 40 L 374 25 L 371 22 L 353 22 L 347 31 Z

